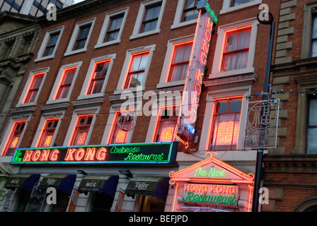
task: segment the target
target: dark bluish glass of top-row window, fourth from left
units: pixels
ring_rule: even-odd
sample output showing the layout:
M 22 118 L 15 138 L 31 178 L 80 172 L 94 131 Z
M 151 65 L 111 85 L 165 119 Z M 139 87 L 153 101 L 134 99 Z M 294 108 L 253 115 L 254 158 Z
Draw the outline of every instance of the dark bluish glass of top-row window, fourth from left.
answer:
M 142 26 L 140 33 L 149 32 L 156 29 L 157 22 L 159 20 L 159 15 L 161 11 L 161 3 L 155 4 L 153 6 L 146 6 L 144 19 L 142 21 Z

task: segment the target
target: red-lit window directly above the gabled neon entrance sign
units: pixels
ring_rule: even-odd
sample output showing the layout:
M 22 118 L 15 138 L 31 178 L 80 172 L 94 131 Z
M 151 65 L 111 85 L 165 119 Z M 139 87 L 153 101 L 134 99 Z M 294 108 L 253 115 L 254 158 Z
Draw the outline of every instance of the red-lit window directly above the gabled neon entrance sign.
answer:
M 236 150 L 242 98 L 214 101 L 211 150 Z

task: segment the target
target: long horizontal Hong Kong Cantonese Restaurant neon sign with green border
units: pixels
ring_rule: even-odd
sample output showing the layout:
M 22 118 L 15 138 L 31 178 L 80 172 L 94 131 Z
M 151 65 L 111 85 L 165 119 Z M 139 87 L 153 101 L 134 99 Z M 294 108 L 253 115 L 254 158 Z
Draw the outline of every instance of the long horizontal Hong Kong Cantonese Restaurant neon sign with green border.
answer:
M 125 143 L 52 148 L 18 148 L 11 164 L 173 164 L 178 144 Z

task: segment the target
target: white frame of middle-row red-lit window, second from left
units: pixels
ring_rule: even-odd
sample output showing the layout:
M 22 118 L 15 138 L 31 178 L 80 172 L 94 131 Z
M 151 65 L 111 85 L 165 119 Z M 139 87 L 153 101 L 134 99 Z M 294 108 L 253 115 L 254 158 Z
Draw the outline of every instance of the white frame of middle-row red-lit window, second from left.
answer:
M 83 63 L 83 61 L 79 61 L 79 62 L 76 62 L 74 64 L 67 64 L 67 65 L 62 66 L 59 69 L 59 72 L 58 72 L 57 78 L 55 80 L 54 86 L 52 88 L 52 92 L 50 94 L 49 100 L 47 100 L 47 102 L 46 102 L 47 105 L 57 104 L 57 103 L 61 103 L 61 102 L 69 102 L 70 97 L 71 97 L 71 92 L 74 88 L 74 84 L 76 83 L 76 78 L 77 78 L 77 75 L 79 73 L 79 69 L 81 68 L 82 63 Z M 76 72 L 74 74 L 73 82 L 71 83 L 71 88 L 69 89 L 69 93 L 68 93 L 67 97 L 54 100 L 54 96 L 56 95 L 57 89 L 59 88 L 60 82 L 62 80 L 62 76 L 64 74 L 63 73 L 64 70 L 71 68 L 71 67 L 74 67 L 74 66 L 77 66 L 77 69 L 76 69 Z

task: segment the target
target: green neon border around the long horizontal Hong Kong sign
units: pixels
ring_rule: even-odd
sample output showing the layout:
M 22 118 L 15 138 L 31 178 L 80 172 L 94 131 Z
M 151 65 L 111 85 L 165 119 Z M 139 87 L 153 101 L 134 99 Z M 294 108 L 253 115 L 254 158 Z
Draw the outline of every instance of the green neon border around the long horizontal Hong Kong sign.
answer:
M 127 144 L 120 144 L 120 145 L 125 145 L 125 146 L 134 146 L 134 145 L 163 145 L 163 144 L 169 144 L 170 148 L 168 150 L 168 160 L 163 160 L 161 162 L 157 160 L 147 160 L 147 161 L 57 161 L 57 162 L 52 162 L 52 161 L 38 161 L 38 162 L 13 162 L 13 159 L 16 158 L 16 154 L 19 150 L 43 150 L 47 148 L 17 148 L 12 160 L 11 160 L 11 165 L 42 165 L 42 164 L 49 164 L 49 165 L 73 165 L 73 164 L 168 164 L 171 162 L 171 155 L 172 155 L 172 150 L 173 150 L 173 142 L 157 142 L 157 143 L 127 143 Z M 110 144 L 110 145 L 83 145 L 83 146 L 59 146 L 59 147 L 48 147 L 48 148 L 89 148 L 89 147 L 111 147 L 111 146 L 117 146 L 115 144 Z M 177 151 L 177 150 L 175 150 Z

